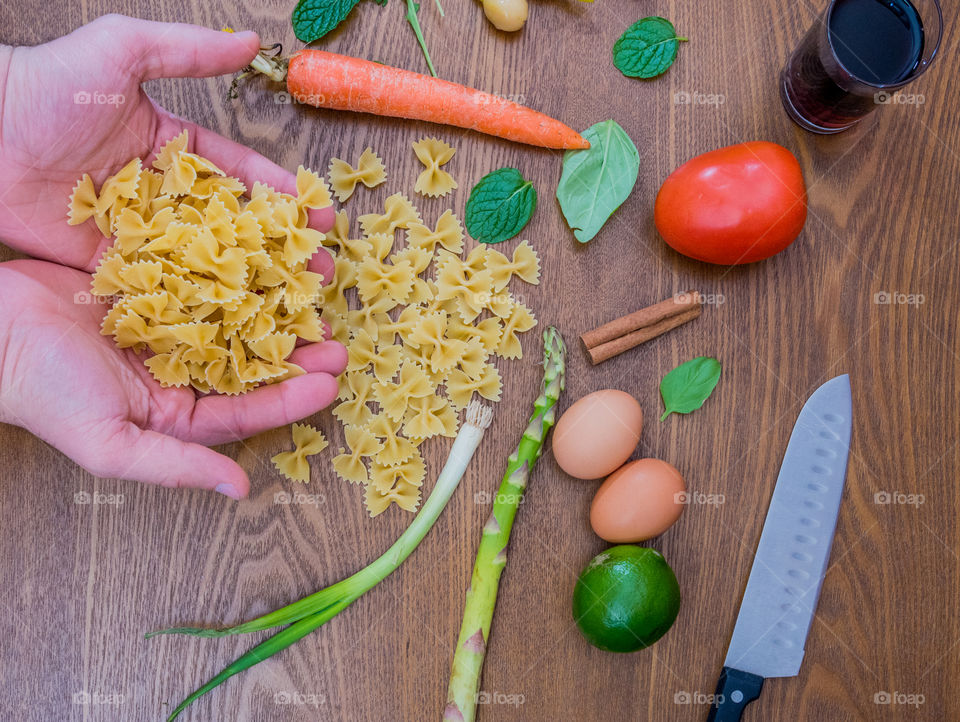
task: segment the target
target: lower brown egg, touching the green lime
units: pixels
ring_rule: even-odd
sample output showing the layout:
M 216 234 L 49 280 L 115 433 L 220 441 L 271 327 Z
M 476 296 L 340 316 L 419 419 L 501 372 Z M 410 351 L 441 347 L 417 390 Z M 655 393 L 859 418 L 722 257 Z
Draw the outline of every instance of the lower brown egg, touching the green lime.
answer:
M 660 459 L 631 461 L 597 489 L 590 526 L 613 544 L 646 541 L 680 518 L 685 501 L 686 484 L 676 468 Z

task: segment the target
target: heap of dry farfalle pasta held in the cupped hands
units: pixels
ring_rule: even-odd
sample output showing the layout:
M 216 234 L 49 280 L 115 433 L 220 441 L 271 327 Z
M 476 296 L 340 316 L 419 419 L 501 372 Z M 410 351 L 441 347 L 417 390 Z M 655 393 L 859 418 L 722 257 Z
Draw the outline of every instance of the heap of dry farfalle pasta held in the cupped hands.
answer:
M 240 394 L 303 373 L 288 361 L 297 338 L 323 339 L 316 307 L 324 278 L 306 269 L 323 241 L 307 209 L 332 203 L 326 182 L 302 167 L 297 196 L 247 189 L 168 142 L 155 170 L 135 158 L 99 194 L 84 175 L 69 222 L 93 218 L 114 236 L 93 274 L 97 296 L 115 296 L 102 333 L 120 348 L 149 349 L 163 386 Z

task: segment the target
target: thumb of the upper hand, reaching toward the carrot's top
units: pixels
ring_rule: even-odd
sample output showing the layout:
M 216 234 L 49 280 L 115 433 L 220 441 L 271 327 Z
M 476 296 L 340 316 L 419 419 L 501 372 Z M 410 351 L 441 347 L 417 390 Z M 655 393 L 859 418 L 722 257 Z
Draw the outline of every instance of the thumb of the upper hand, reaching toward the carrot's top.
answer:
M 124 43 L 134 57 L 133 72 L 141 80 L 206 78 L 236 72 L 250 64 L 260 48 L 254 32 L 230 33 L 198 25 L 158 23 L 108 15 L 91 24 L 104 25 L 107 42 Z

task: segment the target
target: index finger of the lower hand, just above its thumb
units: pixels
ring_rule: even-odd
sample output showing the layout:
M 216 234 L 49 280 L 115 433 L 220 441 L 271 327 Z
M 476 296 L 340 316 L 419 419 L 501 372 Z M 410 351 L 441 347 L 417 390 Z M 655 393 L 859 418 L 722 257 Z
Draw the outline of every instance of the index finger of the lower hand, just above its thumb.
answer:
M 305 347 L 306 348 L 306 347 Z M 242 396 L 207 396 L 197 401 L 187 436 L 201 444 L 222 444 L 312 416 L 337 397 L 329 373 L 308 373 Z

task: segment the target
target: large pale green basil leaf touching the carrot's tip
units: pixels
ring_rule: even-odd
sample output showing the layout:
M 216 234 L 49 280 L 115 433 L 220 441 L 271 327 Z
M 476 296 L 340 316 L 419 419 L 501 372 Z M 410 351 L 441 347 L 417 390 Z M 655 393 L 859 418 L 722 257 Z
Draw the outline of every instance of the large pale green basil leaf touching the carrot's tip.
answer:
M 582 135 L 590 147 L 563 154 L 557 200 L 573 235 L 586 243 L 630 195 L 640 173 L 640 154 L 613 120 L 592 125 Z

